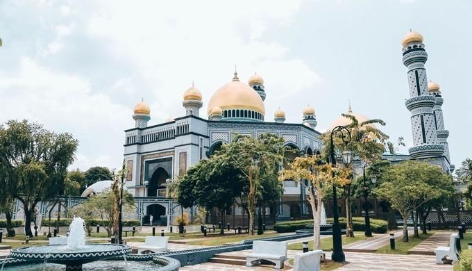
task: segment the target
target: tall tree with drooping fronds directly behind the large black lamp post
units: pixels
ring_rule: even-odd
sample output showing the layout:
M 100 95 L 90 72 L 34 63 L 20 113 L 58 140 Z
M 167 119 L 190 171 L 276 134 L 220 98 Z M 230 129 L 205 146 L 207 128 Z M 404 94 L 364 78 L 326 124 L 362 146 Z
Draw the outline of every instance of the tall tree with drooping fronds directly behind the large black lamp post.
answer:
M 344 149 L 349 149 L 353 151 L 353 157 L 355 159 L 360 159 L 362 163 L 373 163 L 382 158 L 382 154 L 387 147 L 387 140 L 389 136 L 385 133 L 382 133 L 380 129 L 377 129 L 374 124 L 379 124 L 381 126 L 385 125 L 383 120 L 373 119 L 366 120 L 364 122 L 359 122 L 354 115 L 342 114 L 343 117 L 346 117 L 351 121 L 350 124 L 346 125 L 346 129 L 351 133 L 351 141 L 348 144 L 344 144 L 340 138 L 333 138 L 335 142 L 335 151 L 339 154 L 344 151 Z M 330 133 L 327 131 L 323 134 L 322 140 L 325 148 L 323 149 L 323 154 L 328 156 L 328 150 L 330 145 Z M 353 168 L 353 161 L 347 167 Z M 354 173 L 354 172 L 353 172 Z M 353 176 L 352 176 L 353 177 Z M 351 190 L 351 182 L 347 182 L 344 188 L 344 203 L 346 206 L 346 236 L 354 237 L 353 231 L 353 216 L 351 211 L 351 196 L 353 191 Z

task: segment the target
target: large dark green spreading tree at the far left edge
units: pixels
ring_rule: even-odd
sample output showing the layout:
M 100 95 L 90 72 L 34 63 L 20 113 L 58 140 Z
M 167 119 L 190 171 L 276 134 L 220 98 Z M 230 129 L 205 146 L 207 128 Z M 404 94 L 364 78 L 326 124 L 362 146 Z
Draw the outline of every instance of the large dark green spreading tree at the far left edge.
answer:
M 38 202 L 60 195 L 67 167 L 78 146 L 70 133 L 54 133 L 27 120 L 10 120 L 0 127 L 0 180 L 10 197 L 23 204 L 25 233 L 33 236 L 31 221 Z

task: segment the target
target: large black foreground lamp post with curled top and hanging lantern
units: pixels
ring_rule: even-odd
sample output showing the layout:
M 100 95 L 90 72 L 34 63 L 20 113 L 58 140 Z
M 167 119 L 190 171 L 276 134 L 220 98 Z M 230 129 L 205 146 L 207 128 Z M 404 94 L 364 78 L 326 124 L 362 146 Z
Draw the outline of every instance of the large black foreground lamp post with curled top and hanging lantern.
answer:
M 351 132 L 345 127 L 345 126 L 336 126 L 334 129 L 332 129 L 330 133 L 330 163 L 332 167 L 336 166 L 336 158 L 335 158 L 335 143 L 332 140 L 332 136 L 335 135 L 335 133 L 339 133 L 339 138 L 342 139 L 342 142 L 344 142 L 346 145 L 348 142 L 351 141 Z M 349 151 L 348 149 L 344 150 L 342 152 L 342 158 L 343 161 L 346 165 L 351 162 L 351 158 L 353 156 L 353 152 Z M 335 177 L 335 172 L 332 171 L 332 177 Z M 332 254 L 331 254 L 331 259 L 332 261 L 337 261 L 337 262 L 344 262 L 346 259 L 344 256 L 344 252 L 342 251 L 342 237 L 341 237 L 341 227 L 339 227 L 339 212 L 337 210 L 337 195 L 336 195 L 336 184 L 333 182 L 332 183 L 332 205 L 333 205 L 333 211 L 332 211 L 332 217 L 333 217 L 333 222 L 332 222 Z

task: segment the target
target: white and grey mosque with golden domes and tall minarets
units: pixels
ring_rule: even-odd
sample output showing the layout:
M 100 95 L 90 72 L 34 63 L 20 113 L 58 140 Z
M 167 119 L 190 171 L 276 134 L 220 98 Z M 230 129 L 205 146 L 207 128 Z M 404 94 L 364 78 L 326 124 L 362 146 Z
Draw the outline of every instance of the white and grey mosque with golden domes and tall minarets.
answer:
M 438 165 L 444 172 L 453 172 L 447 142 L 449 132 L 444 128 L 441 110 L 443 98 L 439 85 L 428 83 L 424 66 L 428 54 L 423 37 L 411 31 L 403 38 L 402 45 L 403 64 L 407 67 L 410 88 L 410 99 L 405 101 L 405 106 L 412 114 L 414 146 L 409 149 L 409 155 L 385 154 L 384 158 L 389 161 L 425 160 Z M 285 145 L 298 152 L 319 154 L 321 132 L 316 130 L 314 108 L 307 106 L 303 109 L 301 122 L 287 123 L 283 110 L 276 110 L 273 114 L 266 112 L 264 101 L 267 95 L 270 97 L 270 92 L 266 92 L 260 74 L 253 74 L 244 83 L 235 72 L 233 79 L 212 95 L 206 106 L 208 118 L 201 116 L 202 95 L 193 84 L 183 93 L 185 115 L 169 118 L 164 123 L 149 125 L 149 106 L 144 101 L 136 104 L 133 111 L 135 127 L 125 131 L 124 159 L 129 170 L 126 186 L 137 199 L 137 213 L 143 224 L 149 223 L 150 215 L 154 217 L 153 223 L 167 224 L 168 220 L 172 221 L 180 208 L 176 208 L 176 202 L 166 197 L 166 183 L 211 156 L 222 144 L 231 142 L 235 133 L 254 137 L 274 133 L 285 140 Z M 368 120 L 364 115 L 353 113 L 351 108 L 347 113 L 355 115 L 360 122 Z M 273 119 L 269 117 L 272 115 Z M 341 116 L 330 127 L 348 123 L 350 120 Z M 308 215 L 305 190 L 295 181 L 284 181 L 283 186 L 280 202 L 267 208 L 267 215 L 274 221 Z M 372 201 L 378 217 L 381 217 L 382 208 L 376 199 Z M 328 215 L 330 208 L 328 204 Z M 360 212 L 360 208 L 353 211 Z M 193 219 L 194 209 L 189 213 Z M 238 206 L 226 211 L 226 215 L 226 221 L 233 221 L 233 224 L 244 220 L 244 212 Z

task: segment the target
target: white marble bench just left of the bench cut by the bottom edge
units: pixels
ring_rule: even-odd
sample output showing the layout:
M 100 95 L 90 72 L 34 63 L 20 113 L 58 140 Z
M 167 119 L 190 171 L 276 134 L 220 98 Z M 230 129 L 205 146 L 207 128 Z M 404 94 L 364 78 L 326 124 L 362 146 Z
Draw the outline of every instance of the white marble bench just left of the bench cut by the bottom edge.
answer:
M 246 266 L 260 264 L 261 260 L 266 260 L 275 263 L 276 269 L 281 269 L 286 258 L 287 242 L 254 241 L 253 252 L 246 255 Z

